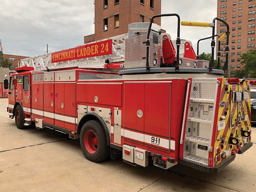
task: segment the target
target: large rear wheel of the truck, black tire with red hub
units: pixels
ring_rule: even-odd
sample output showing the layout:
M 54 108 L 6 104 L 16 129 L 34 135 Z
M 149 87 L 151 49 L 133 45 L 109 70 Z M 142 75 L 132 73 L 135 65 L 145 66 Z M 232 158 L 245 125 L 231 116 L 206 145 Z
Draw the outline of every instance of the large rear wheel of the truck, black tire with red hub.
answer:
M 97 120 L 90 120 L 82 126 L 80 145 L 86 159 L 99 163 L 110 155 L 110 147 L 102 124 Z

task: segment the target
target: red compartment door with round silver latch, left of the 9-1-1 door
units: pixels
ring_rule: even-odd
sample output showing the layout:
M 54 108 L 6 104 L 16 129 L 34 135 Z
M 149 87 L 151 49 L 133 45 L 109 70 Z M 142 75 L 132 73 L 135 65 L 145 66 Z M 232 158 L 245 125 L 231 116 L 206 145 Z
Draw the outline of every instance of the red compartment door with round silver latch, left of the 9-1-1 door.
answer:
M 144 144 L 144 88 L 144 83 L 124 83 L 124 140 L 141 144 Z

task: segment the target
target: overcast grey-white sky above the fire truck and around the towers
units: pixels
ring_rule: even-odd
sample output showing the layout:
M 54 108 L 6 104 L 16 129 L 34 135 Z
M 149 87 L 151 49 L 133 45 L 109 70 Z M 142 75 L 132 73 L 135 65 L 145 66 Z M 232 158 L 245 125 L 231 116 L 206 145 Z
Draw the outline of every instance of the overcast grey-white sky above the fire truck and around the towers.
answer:
M 178 13 L 181 20 L 211 23 L 217 14 L 216 0 L 162 0 L 162 13 Z M 1 0 L 0 39 L 4 54 L 36 56 L 83 44 L 94 33 L 93 0 Z M 177 35 L 177 19 L 162 18 L 162 29 Z M 211 35 L 210 28 L 181 27 L 181 38 L 196 42 Z M 200 52 L 210 52 L 210 41 Z

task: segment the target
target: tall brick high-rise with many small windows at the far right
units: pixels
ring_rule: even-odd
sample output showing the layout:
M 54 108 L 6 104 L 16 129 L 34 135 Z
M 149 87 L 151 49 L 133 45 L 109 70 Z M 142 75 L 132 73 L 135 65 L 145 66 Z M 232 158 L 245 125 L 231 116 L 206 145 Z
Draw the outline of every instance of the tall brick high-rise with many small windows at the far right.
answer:
M 255 0 L 218 0 L 218 17 L 230 26 L 230 68 L 241 68 L 243 53 L 255 47 Z M 217 33 L 226 32 L 226 26 L 218 22 Z M 221 41 L 221 61 L 225 62 L 225 42 Z

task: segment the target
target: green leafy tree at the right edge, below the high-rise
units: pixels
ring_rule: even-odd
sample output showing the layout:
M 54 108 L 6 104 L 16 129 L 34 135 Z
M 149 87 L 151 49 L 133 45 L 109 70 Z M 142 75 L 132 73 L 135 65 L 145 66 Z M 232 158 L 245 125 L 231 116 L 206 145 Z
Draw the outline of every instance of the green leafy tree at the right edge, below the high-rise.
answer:
M 251 49 L 249 52 L 242 54 L 241 64 L 251 78 L 256 78 L 256 48 Z

